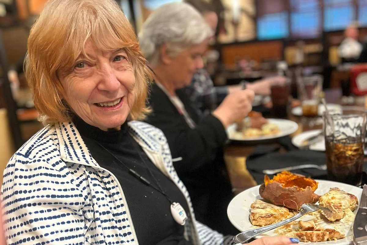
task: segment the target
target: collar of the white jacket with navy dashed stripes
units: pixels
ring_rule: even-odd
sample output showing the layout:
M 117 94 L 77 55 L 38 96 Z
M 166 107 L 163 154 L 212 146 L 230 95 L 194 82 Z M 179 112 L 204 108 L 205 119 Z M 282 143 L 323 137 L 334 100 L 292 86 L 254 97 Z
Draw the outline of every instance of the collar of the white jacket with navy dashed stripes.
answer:
M 137 140 L 141 147 L 158 153 L 160 151 L 159 139 L 155 137 L 154 127 L 143 122 L 132 121 L 128 123 L 129 133 Z M 99 166 L 92 157 L 89 149 L 81 138 L 74 123 L 57 123 L 55 125 L 60 144 L 61 159 L 89 166 Z M 156 129 L 155 129 L 156 130 Z

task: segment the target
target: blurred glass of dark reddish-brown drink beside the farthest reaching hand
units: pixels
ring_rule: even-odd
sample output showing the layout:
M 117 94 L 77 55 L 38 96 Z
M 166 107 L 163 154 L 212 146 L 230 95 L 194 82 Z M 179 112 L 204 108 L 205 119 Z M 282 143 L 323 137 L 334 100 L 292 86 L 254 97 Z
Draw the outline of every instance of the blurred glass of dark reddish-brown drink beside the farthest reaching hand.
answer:
M 273 85 L 271 87 L 271 97 L 273 103 L 272 114 L 275 117 L 285 118 L 288 115 L 288 99 L 290 85 Z

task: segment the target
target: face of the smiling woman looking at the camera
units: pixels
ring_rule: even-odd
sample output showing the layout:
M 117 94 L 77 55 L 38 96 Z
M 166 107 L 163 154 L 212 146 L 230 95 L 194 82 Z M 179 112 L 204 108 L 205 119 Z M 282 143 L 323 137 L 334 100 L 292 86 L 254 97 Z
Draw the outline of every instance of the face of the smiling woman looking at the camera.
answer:
M 58 71 L 63 98 L 86 123 L 101 130 L 120 129 L 135 101 L 135 76 L 123 49 L 102 51 L 86 44 L 69 71 Z

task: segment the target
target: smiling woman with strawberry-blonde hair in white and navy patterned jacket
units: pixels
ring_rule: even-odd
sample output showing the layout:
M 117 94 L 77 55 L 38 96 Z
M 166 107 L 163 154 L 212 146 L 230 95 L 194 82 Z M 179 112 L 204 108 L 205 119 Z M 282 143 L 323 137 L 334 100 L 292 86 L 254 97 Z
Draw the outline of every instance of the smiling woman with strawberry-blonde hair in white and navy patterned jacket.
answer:
M 195 220 L 166 138 L 144 118 L 150 72 L 113 0 L 51 0 L 25 72 L 46 126 L 10 159 L 7 244 L 229 244 Z M 255 241 L 287 245 L 286 237 Z

